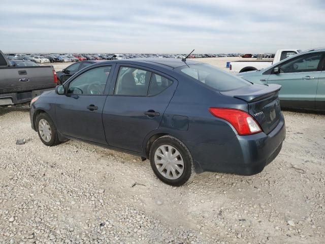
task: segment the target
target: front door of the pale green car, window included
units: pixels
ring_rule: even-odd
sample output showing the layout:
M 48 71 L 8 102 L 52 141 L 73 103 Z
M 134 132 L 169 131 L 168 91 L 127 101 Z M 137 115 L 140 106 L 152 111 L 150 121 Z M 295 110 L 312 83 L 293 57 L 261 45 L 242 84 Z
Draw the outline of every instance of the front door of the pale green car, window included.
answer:
M 322 53 L 308 53 L 290 58 L 279 64 L 279 73 L 273 72 L 268 84 L 279 84 L 281 106 L 286 108 L 315 109 L 319 68 Z

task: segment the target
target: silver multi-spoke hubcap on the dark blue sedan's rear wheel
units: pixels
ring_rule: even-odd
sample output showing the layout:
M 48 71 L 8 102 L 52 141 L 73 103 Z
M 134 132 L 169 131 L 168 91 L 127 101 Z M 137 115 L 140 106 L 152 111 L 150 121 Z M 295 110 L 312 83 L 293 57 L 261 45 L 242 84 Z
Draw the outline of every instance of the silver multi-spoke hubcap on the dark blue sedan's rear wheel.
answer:
M 154 163 L 159 173 L 168 179 L 178 179 L 184 171 L 182 156 L 171 145 L 161 145 L 157 148 Z

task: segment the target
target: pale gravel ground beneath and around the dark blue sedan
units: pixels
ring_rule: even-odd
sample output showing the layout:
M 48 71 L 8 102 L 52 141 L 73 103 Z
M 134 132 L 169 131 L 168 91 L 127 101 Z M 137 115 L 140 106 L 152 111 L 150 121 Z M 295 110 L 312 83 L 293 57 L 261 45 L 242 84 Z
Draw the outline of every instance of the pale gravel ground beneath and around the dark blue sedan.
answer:
M 284 116 L 283 148 L 262 173 L 175 188 L 135 156 L 47 147 L 28 108 L 0 108 L 0 243 L 324 243 L 325 115 Z

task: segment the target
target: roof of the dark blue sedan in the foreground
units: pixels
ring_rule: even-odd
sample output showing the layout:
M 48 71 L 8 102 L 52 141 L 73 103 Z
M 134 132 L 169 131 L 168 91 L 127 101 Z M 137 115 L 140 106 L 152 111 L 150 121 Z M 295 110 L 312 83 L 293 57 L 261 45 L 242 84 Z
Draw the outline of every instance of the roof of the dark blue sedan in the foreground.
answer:
M 158 57 L 158 58 L 132 58 L 132 59 L 116 59 L 106 61 L 105 63 L 128 63 L 128 64 L 135 64 L 135 65 L 161 65 L 165 67 L 169 67 L 171 69 L 186 66 L 186 65 L 197 65 L 203 64 L 201 62 L 194 61 L 190 58 L 186 59 L 186 62 L 183 62 L 180 58 L 165 58 L 165 57 Z

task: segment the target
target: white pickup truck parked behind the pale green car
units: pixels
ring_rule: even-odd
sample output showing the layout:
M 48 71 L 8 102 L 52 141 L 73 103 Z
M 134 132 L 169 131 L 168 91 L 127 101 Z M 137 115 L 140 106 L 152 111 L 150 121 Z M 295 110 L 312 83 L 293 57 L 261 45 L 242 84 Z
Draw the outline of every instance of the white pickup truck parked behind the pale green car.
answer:
M 300 53 L 299 49 L 280 49 L 277 50 L 273 60 L 243 60 L 230 63 L 229 70 L 231 73 L 241 73 L 246 71 L 261 70 L 274 65 L 281 60 Z

